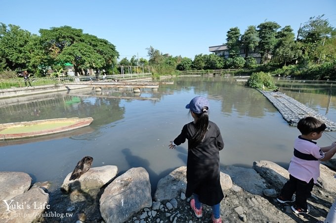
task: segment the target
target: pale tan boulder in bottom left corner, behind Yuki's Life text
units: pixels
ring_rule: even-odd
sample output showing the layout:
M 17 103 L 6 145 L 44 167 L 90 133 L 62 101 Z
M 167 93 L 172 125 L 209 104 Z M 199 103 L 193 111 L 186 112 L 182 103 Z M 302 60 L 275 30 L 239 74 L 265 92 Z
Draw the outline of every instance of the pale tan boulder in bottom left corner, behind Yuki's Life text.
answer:
M 2 200 L 0 203 L 1 223 L 33 222 L 50 208 L 48 205 L 49 194 L 41 188 L 33 188 L 11 199 Z

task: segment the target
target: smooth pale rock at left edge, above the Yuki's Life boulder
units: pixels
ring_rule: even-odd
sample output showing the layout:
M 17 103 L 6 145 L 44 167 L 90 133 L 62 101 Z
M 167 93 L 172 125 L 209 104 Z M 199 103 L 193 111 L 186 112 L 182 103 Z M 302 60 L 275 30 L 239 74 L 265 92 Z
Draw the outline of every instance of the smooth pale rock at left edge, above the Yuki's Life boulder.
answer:
M 0 200 L 7 200 L 27 191 L 32 178 L 23 172 L 0 172 Z

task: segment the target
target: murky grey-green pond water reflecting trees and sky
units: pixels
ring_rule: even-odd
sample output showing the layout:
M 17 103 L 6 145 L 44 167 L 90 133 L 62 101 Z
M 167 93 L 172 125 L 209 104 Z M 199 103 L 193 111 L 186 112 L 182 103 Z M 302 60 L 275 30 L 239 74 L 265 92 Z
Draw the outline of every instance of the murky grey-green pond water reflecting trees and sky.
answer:
M 0 171 L 23 171 L 34 182 L 50 181 L 59 187 L 84 156 L 92 167 L 117 165 L 119 174 L 144 167 L 152 192 L 159 179 L 186 165 L 187 143 L 169 150 L 169 141 L 191 122 L 185 105 L 194 96 L 210 101 L 210 120 L 221 130 L 224 149 L 221 167 L 252 167 L 270 160 L 287 168 L 299 131 L 290 127 L 278 110 L 258 91 L 243 86 L 237 77 L 177 77 L 173 85 L 141 94 L 105 88 L 0 99 L 0 123 L 63 117 L 92 117 L 94 121 L 66 134 L 19 142 L 0 140 Z M 165 80 L 166 81 L 166 80 Z M 336 89 L 332 82 L 275 79 L 280 92 L 336 121 Z M 336 86 L 336 84 L 335 84 Z M 330 145 L 335 132 L 318 140 Z

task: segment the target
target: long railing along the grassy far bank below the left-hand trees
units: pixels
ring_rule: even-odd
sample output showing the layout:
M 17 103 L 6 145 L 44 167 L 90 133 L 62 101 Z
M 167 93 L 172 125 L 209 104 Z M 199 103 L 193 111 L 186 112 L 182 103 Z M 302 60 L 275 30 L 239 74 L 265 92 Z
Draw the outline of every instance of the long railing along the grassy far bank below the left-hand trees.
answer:
M 23 78 L 0 79 L 0 89 L 25 88 L 44 85 L 56 85 L 67 83 L 79 83 L 88 81 L 122 81 L 134 78 L 152 77 L 152 73 L 133 73 L 133 74 L 112 74 L 99 76 L 67 76 L 67 77 L 30 77 L 28 80 Z

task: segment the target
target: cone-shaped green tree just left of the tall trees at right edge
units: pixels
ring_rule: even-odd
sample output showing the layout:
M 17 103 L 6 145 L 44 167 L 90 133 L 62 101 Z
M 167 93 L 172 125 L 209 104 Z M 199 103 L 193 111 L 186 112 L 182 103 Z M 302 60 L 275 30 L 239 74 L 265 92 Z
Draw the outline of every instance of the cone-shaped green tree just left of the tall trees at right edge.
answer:
M 291 26 L 285 26 L 277 33 L 276 37 L 278 41 L 275 45 L 274 61 L 286 65 L 301 56 L 302 52 L 294 41 L 295 35 Z

